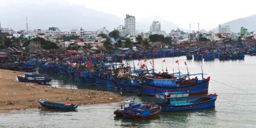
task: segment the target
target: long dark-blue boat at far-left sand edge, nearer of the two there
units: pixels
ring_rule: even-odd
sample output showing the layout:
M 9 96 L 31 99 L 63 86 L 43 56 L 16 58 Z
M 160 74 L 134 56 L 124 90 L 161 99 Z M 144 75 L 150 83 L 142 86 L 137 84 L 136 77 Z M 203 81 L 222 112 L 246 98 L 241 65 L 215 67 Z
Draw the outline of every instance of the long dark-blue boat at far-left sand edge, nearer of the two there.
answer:
M 30 82 L 30 83 L 49 83 L 52 78 L 47 77 L 35 77 L 35 78 L 27 78 L 23 76 L 17 76 L 19 82 Z

